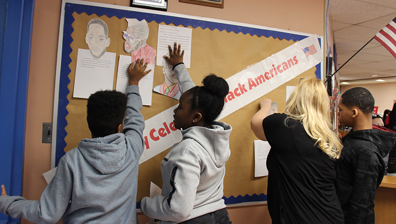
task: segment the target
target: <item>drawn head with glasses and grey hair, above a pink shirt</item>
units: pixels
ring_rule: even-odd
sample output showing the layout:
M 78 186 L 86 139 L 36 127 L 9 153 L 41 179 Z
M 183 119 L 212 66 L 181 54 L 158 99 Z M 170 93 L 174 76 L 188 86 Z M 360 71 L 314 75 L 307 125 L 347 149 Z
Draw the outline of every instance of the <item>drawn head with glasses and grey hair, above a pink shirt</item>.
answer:
M 126 53 L 131 53 L 138 48 L 146 45 L 148 39 L 148 25 L 146 20 L 139 21 L 137 19 L 126 19 L 128 27 L 123 31 L 122 37 L 124 38 L 124 50 Z

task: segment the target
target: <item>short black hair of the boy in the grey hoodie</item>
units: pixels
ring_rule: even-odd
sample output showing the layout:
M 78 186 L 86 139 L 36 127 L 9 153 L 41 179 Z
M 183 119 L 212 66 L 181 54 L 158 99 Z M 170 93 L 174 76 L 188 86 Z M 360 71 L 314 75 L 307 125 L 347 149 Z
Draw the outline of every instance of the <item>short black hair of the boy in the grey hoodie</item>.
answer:
M 104 137 L 117 132 L 124 121 L 127 96 L 115 90 L 98 91 L 87 103 L 87 122 L 92 136 Z

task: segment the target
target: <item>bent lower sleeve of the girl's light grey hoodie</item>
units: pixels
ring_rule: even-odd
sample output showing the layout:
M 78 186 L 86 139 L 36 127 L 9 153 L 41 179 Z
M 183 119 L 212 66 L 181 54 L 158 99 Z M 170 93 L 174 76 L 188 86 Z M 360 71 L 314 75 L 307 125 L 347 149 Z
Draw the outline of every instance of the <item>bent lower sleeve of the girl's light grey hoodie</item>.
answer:
M 172 168 L 170 175 L 170 192 L 153 198 L 144 197 L 141 201 L 143 214 L 161 221 L 179 223 L 189 217 L 199 183 L 200 159 L 191 148 L 174 148 L 166 162 Z

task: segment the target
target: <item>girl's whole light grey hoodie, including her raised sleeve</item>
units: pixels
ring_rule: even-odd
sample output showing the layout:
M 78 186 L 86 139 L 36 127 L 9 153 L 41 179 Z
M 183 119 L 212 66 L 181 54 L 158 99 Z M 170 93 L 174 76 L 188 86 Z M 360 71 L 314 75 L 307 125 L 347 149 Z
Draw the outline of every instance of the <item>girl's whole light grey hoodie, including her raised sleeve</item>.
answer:
M 186 66 L 174 67 L 181 93 L 194 87 Z M 226 207 L 223 197 L 225 164 L 230 157 L 231 126 L 215 121 L 212 128 L 181 130 L 183 139 L 161 162 L 162 195 L 144 197 L 143 214 L 175 224 Z

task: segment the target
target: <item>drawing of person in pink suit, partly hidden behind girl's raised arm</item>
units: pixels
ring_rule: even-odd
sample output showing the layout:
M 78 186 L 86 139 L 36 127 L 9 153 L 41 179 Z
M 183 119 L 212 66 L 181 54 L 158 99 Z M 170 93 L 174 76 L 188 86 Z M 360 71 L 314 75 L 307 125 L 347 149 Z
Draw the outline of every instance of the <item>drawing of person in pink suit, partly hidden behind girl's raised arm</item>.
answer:
M 166 56 L 169 57 L 169 54 L 166 54 Z M 164 74 L 165 81 L 161 85 L 154 87 L 154 91 L 179 100 L 181 95 L 179 91 L 179 83 L 175 76 L 175 72 L 173 72 L 173 66 L 170 65 L 167 60 L 162 60 L 162 73 Z

